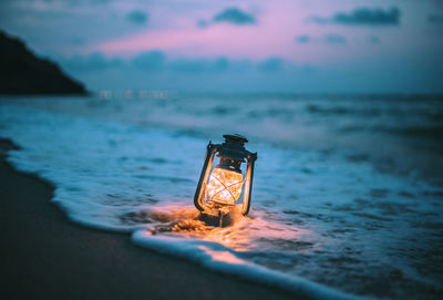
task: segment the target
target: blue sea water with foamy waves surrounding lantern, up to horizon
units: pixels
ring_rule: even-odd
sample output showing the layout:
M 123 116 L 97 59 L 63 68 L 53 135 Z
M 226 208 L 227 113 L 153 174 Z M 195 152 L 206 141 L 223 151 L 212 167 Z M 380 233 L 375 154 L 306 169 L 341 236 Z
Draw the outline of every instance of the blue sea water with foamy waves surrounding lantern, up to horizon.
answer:
M 251 211 L 198 221 L 209 139 L 258 153 Z M 312 299 L 443 297 L 443 101 L 174 94 L 3 97 L 18 169 L 89 227 Z

